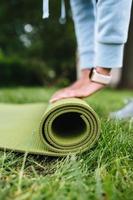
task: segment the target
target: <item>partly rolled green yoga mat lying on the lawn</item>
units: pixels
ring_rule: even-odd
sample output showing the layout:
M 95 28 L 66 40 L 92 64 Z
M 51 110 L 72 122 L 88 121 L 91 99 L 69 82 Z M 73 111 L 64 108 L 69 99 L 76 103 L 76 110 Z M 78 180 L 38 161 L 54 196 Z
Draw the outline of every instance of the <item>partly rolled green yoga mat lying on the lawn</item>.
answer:
M 65 156 L 91 148 L 100 135 L 95 111 L 83 100 L 0 104 L 0 148 Z

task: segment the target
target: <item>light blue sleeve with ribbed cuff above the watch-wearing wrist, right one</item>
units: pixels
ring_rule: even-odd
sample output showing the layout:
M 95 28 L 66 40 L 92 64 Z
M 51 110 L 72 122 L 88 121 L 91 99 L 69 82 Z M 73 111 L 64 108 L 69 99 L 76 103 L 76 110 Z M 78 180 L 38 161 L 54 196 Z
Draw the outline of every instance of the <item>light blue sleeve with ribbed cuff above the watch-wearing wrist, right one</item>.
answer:
M 122 67 L 132 0 L 99 0 L 96 20 L 95 65 Z

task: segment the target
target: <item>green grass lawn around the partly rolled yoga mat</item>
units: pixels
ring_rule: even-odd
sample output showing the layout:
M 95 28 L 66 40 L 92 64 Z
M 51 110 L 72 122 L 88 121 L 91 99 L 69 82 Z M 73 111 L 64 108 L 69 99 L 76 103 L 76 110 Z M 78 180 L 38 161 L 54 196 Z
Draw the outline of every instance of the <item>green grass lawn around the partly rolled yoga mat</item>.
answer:
M 0 89 L 0 102 L 47 102 L 56 89 Z M 102 122 L 90 151 L 66 158 L 0 151 L 0 200 L 133 200 L 133 120 L 109 121 L 130 91 L 87 98 Z

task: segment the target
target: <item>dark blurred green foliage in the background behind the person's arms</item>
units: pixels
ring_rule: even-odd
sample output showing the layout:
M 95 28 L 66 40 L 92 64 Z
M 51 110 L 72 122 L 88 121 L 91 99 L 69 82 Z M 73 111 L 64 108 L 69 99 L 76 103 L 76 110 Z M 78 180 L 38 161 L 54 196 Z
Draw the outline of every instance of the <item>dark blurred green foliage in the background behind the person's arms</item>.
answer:
M 0 2 L 0 86 L 65 86 L 76 79 L 76 39 L 69 1 L 67 21 L 59 23 L 61 2 L 50 2 L 42 19 L 42 0 Z M 130 26 L 119 87 L 133 88 L 133 28 Z

